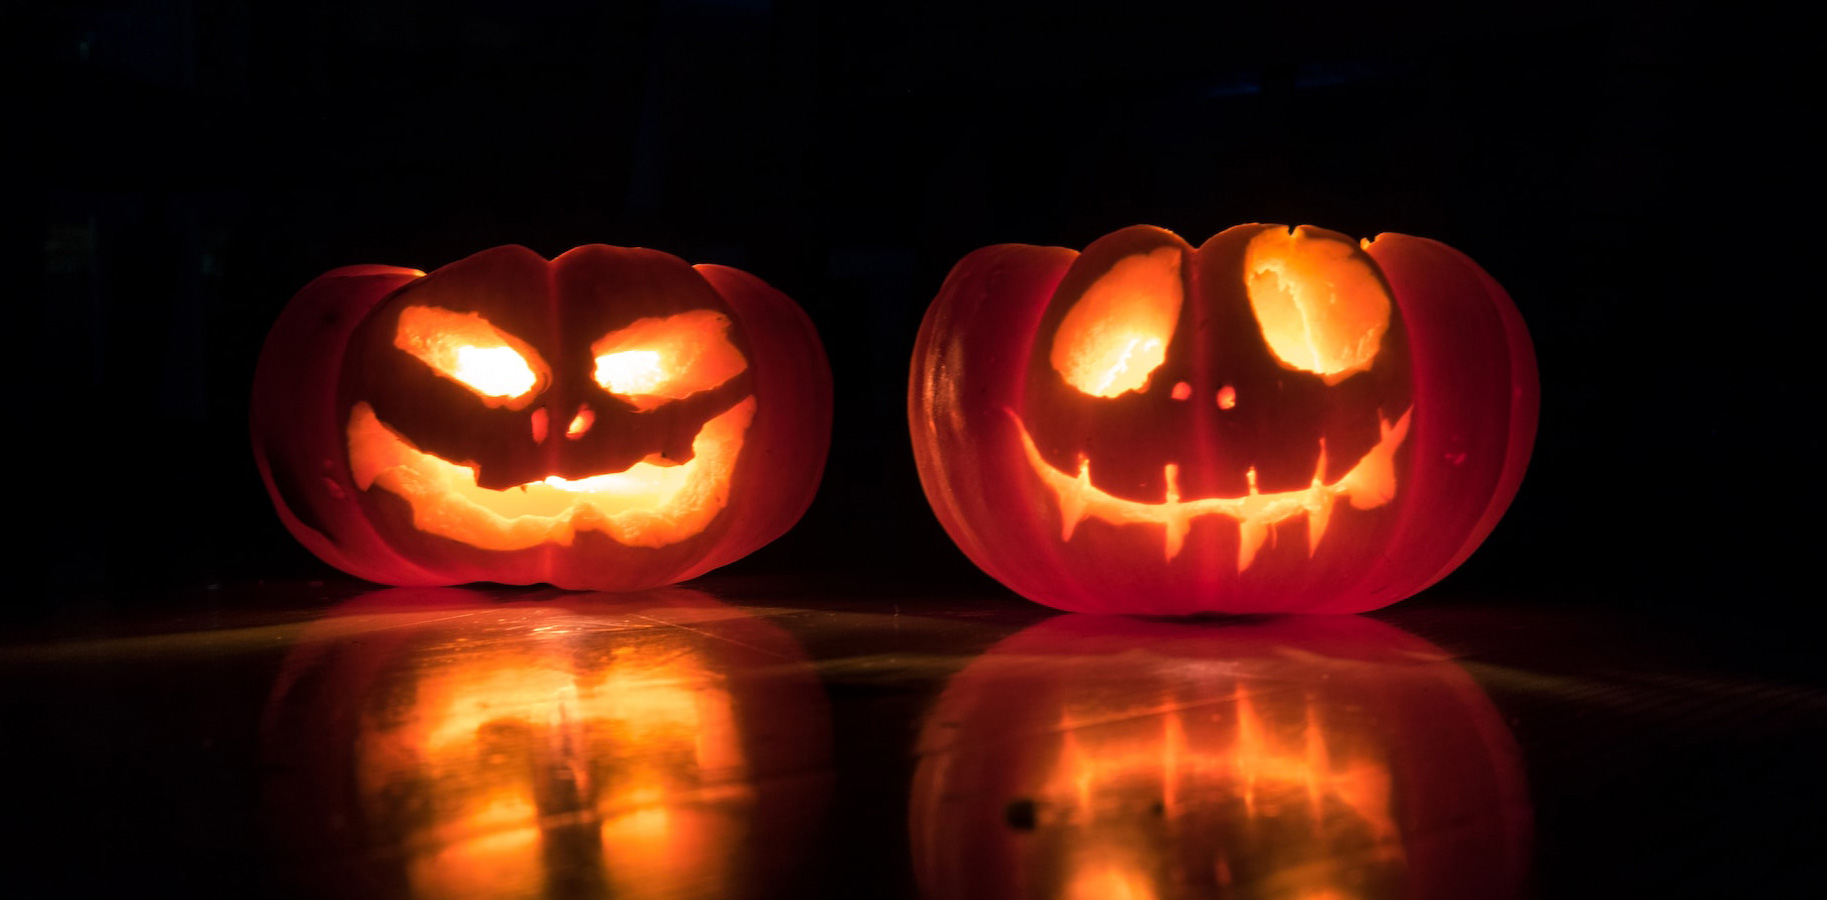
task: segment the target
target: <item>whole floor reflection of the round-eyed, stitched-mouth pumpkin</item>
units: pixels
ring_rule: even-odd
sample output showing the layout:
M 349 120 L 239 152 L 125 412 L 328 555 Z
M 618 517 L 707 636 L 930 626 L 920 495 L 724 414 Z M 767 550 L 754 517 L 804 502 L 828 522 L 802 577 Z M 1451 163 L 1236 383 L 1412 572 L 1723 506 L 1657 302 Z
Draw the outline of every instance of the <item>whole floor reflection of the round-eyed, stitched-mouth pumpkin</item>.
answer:
M 961 672 L 919 752 L 934 898 L 1494 900 L 1526 873 L 1496 710 L 1368 619 L 1052 619 Z

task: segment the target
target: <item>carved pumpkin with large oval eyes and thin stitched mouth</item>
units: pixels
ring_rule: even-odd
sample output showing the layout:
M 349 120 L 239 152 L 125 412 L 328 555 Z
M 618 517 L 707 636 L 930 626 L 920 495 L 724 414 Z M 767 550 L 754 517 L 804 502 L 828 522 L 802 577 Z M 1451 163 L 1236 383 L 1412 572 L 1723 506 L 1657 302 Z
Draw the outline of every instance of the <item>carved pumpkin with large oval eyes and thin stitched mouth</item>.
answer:
M 1133 226 L 965 257 L 908 420 L 939 522 L 1034 601 L 1361 612 L 1485 539 L 1537 394 L 1515 305 L 1445 245 Z

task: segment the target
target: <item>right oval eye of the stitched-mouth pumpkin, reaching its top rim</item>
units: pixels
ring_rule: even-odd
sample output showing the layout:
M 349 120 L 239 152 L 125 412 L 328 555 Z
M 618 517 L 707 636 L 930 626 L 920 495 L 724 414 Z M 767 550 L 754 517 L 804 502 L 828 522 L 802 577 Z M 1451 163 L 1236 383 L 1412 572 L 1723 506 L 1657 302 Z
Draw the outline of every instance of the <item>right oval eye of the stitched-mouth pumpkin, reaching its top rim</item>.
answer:
M 1244 248 L 1244 288 L 1268 349 L 1328 385 L 1370 369 L 1389 330 L 1389 288 L 1348 241 L 1266 230 Z

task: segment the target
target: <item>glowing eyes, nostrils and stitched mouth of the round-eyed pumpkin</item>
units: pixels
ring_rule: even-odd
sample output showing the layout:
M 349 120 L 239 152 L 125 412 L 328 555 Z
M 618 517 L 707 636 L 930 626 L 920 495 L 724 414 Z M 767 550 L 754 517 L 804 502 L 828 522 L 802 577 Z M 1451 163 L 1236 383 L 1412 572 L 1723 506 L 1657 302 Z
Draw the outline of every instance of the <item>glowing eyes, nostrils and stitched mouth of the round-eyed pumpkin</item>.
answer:
M 1167 360 L 1186 288 L 1180 250 L 1162 246 L 1118 259 L 1072 303 L 1052 338 L 1049 361 L 1060 378 L 1096 398 L 1147 392 L 1151 374 Z M 1319 374 L 1328 385 L 1370 367 L 1389 329 L 1389 290 L 1368 259 L 1334 235 L 1308 230 L 1268 230 L 1244 248 L 1244 288 L 1261 325 L 1262 340 L 1288 369 Z M 1171 398 L 1191 400 L 1186 382 Z M 1237 407 L 1237 389 L 1217 391 L 1219 409 Z M 1091 480 L 1093 460 L 1078 453 L 1076 471 L 1049 464 L 1021 416 L 1009 409 L 1021 431 L 1034 473 L 1060 506 L 1060 540 L 1085 518 L 1118 526 L 1158 526 L 1167 560 L 1180 553 L 1191 522 L 1222 515 L 1237 522 L 1237 571 L 1250 568 L 1272 526 L 1295 517 L 1306 520 L 1306 553 L 1314 555 L 1332 520 L 1337 500 L 1356 509 L 1374 509 L 1396 495 L 1396 451 L 1409 436 L 1409 411 L 1394 424 L 1379 414 L 1379 438 L 1357 462 L 1326 480 L 1325 436 L 1312 484 L 1284 491 L 1261 491 L 1257 469 L 1244 471 L 1248 493 L 1239 497 L 1182 497 L 1180 464 L 1162 464 L 1166 497 L 1158 502 L 1111 495 Z

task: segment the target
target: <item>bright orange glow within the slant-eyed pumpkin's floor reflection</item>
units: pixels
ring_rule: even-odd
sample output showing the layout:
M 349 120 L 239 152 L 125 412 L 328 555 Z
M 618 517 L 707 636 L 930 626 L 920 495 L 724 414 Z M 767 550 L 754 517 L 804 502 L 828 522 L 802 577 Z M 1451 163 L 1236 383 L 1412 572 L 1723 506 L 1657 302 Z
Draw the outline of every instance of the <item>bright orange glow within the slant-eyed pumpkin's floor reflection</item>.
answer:
M 579 666 L 541 632 L 429 666 L 404 721 L 364 734 L 364 803 L 420 792 L 413 896 L 544 896 L 554 853 L 599 854 L 610 896 L 723 895 L 753 789 L 722 675 L 676 641 Z

